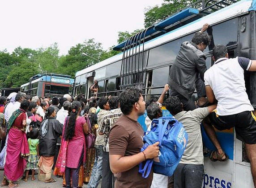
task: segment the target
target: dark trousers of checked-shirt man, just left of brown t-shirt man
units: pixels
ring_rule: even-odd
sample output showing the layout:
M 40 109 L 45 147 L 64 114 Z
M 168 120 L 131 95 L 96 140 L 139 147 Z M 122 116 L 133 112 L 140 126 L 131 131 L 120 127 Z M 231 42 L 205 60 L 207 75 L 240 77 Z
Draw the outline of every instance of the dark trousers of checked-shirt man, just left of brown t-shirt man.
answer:
M 114 188 L 115 177 L 109 165 L 109 152 L 103 151 L 102 157 L 102 184 L 101 188 Z

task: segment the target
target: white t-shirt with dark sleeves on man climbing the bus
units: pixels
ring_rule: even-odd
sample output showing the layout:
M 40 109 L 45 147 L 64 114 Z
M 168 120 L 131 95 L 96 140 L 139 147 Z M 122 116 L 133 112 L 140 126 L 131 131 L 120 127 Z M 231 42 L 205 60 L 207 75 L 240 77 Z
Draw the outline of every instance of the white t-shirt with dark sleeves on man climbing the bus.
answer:
M 212 88 L 218 100 L 218 115 L 254 110 L 246 93 L 243 75 L 251 64 L 252 60 L 244 57 L 220 58 L 205 72 L 205 86 Z

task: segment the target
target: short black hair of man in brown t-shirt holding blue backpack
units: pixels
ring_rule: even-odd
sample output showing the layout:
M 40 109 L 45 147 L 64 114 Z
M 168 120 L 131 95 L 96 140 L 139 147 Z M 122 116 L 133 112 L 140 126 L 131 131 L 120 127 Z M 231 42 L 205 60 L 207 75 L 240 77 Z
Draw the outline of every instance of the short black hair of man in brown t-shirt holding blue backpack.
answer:
M 135 102 L 140 100 L 142 90 L 138 87 L 132 86 L 125 88 L 119 96 L 120 109 L 123 114 L 131 113 Z

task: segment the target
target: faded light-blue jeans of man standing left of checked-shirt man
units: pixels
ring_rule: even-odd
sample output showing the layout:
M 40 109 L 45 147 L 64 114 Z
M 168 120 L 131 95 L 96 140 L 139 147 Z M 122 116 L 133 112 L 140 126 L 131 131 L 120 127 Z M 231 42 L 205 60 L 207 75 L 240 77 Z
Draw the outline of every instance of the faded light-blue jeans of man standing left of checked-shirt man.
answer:
M 95 145 L 95 160 L 91 173 L 90 181 L 87 184 L 87 188 L 97 188 L 99 180 L 102 176 L 102 157 L 103 157 L 103 145 Z

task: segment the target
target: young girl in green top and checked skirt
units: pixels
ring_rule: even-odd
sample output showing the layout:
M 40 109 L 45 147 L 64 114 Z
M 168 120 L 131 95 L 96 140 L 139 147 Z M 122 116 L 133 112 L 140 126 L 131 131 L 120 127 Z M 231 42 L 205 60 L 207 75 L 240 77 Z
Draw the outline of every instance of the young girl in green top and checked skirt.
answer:
M 39 155 L 39 131 L 37 128 L 34 128 L 30 131 L 30 138 L 28 139 L 29 148 L 30 148 L 30 156 L 28 158 L 27 166 L 26 166 L 26 177 L 23 179 L 24 181 L 28 180 L 29 170 L 32 170 L 31 180 L 35 180 L 34 171 L 38 169 L 38 155 Z

